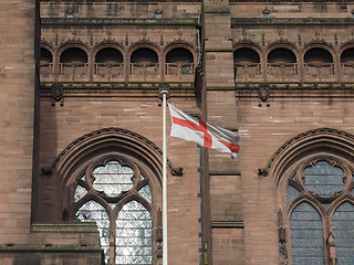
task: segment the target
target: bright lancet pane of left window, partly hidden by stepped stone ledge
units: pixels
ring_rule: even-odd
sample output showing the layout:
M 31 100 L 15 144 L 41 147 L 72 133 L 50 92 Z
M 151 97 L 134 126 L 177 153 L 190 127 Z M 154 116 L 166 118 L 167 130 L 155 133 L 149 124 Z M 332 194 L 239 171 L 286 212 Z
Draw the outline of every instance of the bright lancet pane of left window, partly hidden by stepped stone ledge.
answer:
M 104 250 L 105 261 L 108 261 L 110 248 L 110 218 L 106 210 L 95 201 L 88 201 L 83 204 L 74 216 L 75 221 L 81 222 L 96 222 L 101 246 Z

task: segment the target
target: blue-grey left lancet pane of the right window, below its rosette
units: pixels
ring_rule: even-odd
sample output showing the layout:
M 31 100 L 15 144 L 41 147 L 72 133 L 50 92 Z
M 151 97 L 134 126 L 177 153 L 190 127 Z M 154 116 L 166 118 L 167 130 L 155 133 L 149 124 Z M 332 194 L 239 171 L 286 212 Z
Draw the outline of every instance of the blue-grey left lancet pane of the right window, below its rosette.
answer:
M 324 265 L 322 221 L 309 203 L 299 204 L 290 215 L 293 265 Z

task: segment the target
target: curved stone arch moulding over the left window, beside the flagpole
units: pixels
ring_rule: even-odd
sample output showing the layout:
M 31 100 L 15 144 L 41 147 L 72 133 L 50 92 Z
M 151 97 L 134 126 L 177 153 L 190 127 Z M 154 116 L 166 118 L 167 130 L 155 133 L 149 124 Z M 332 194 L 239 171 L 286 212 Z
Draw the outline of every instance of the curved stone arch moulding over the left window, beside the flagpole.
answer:
M 70 181 L 75 165 L 97 152 L 114 151 L 127 153 L 150 168 L 162 182 L 163 151 L 144 136 L 122 128 L 104 128 L 86 134 L 71 142 L 54 160 L 52 176 L 61 184 Z M 167 161 L 173 176 L 183 176 L 181 169 L 173 168 Z

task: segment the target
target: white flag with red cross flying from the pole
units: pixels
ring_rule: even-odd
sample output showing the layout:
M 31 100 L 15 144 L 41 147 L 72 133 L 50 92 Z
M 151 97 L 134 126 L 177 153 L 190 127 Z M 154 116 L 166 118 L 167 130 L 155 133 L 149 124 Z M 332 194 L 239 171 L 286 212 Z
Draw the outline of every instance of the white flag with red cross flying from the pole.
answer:
M 239 150 L 239 136 L 202 120 L 198 120 L 168 104 L 171 117 L 170 136 L 197 142 L 199 146 L 227 152 L 236 158 Z

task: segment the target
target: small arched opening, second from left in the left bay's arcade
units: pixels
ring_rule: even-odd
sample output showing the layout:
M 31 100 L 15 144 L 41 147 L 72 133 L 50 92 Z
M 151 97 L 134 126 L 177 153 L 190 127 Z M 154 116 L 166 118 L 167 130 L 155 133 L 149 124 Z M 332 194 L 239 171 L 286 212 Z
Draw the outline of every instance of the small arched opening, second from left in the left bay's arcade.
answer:
M 72 81 L 87 76 L 87 54 L 79 47 L 70 47 L 60 56 L 60 74 L 71 76 Z

